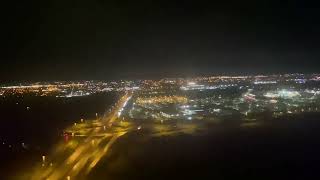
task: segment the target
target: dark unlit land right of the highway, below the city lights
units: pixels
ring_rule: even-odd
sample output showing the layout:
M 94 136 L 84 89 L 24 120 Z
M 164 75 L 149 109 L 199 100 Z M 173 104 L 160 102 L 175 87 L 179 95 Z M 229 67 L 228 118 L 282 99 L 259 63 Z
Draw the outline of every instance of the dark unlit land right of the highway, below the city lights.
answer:
M 317 179 L 319 120 L 304 114 L 198 135 L 129 133 L 89 179 Z

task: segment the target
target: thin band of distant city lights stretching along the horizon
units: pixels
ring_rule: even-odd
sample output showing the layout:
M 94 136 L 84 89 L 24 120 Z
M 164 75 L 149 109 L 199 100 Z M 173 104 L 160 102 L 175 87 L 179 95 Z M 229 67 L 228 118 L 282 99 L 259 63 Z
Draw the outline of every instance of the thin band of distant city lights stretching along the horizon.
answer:
M 145 95 L 166 96 L 168 92 L 174 94 L 177 91 L 205 91 L 227 90 L 232 88 L 252 89 L 264 88 L 264 86 L 283 86 L 290 89 L 291 86 L 308 85 L 320 81 L 319 74 L 283 74 L 283 75 L 255 75 L 255 76 L 209 76 L 194 78 L 165 78 L 160 80 L 136 80 L 136 81 L 56 81 L 22 83 L 0 86 L 0 96 L 24 96 L 32 94 L 36 96 L 54 97 L 78 97 L 89 96 L 100 92 L 135 90 Z M 261 86 L 261 87 L 260 87 Z M 285 89 L 285 88 L 282 88 Z M 276 91 L 279 91 L 276 90 Z M 169 93 L 169 95 L 170 95 Z M 265 97 L 295 96 L 291 92 L 265 92 Z M 250 98 L 250 97 L 247 97 Z

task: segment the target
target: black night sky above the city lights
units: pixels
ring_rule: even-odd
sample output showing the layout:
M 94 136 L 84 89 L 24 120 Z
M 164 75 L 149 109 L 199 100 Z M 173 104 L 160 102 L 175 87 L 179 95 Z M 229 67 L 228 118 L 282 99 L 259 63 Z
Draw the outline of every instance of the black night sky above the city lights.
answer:
M 36 0 L 2 5 L 0 81 L 319 72 L 311 1 Z

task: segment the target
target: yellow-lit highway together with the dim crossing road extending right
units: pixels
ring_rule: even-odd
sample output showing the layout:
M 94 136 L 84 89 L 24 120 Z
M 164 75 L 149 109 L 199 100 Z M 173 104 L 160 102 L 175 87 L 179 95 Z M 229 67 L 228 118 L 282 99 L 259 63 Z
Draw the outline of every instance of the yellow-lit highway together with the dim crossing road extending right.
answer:
M 107 155 L 110 147 L 124 134 L 142 129 L 141 133 L 149 137 L 169 136 L 179 133 L 192 134 L 199 126 L 194 123 L 143 123 L 121 121 L 119 116 L 131 98 L 126 93 L 111 112 L 94 121 L 74 123 L 66 129 L 68 135 L 54 146 L 53 151 L 42 157 L 39 163 L 27 175 L 32 180 L 85 179 L 88 173 Z M 143 131 L 143 130 L 151 130 Z M 145 136 L 146 137 L 146 136 Z M 25 177 L 23 179 L 26 179 Z

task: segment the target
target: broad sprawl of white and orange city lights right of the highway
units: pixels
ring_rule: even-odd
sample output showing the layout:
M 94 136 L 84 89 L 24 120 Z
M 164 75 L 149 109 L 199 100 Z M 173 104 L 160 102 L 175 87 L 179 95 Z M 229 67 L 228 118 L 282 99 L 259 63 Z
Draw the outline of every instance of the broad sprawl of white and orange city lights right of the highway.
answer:
M 145 80 L 123 116 L 133 119 L 246 119 L 320 110 L 317 74 Z M 236 117 L 236 118 L 234 118 Z

